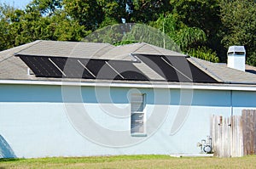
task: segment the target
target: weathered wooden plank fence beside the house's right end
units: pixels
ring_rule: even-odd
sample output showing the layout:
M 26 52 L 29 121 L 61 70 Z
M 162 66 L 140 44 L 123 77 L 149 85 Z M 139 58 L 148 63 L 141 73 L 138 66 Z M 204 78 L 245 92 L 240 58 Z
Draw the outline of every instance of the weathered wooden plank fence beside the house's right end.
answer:
M 211 117 L 212 148 L 219 157 L 256 154 L 256 110 L 242 110 L 242 115 Z

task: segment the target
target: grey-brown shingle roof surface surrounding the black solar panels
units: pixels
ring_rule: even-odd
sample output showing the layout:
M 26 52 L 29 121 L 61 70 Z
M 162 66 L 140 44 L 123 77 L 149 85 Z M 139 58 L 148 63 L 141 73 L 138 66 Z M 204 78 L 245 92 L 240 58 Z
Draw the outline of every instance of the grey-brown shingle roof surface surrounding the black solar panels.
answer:
M 179 54 L 164 48 L 155 47 L 147 43 L 134 43 L 119 47 L 114 47 L 108 43 L 93 42 L 53 42 L 53 41 L 36 41 L 21 45 L 19 47 L 10 48 L 0 52 L 0 79 L 2 80 L 35 80 L 35 81 L 60 81 L 61 79 L 36 77 L 28 75 L 27 65 L 15 54 L 20 55 L 38 55 L 38 56 L 54 56 L 54 57 L 70 57 L 70 58 L 90 58 L 90 59 L 119 59 L 134 60 L 136 54 L 154 54 L 154 55 L 170 55 L 181 56 Z M 202 59 L 193 57 L 187 60 L 207 73 L 218 82 L 238 83 L 238 84 L 256 84 L 256 68 L 247 66 L 249 72 L 234 70 L 225 64 L 214 64 Z M 134 62 L 133 65 L 141 70 L 144 75 L 152 80 L 164 80 L 155 70 L 150 68 L 143 62 Z M 71 79 L 74 81 L 74 79 Z

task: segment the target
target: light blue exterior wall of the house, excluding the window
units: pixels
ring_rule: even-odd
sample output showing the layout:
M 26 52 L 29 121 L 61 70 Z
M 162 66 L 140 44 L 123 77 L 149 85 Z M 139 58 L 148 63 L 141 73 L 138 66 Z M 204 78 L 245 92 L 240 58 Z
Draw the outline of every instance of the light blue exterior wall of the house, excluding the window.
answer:
M 139 92 L 147 136 L 131 137 L 129 94 Z M 255 99 L 240 91 L 0 85 L 0 157 L 197 154 L 212 114 L 240 115 L 256 109 Z M 77 104 L 88 116 L 75 118 Z

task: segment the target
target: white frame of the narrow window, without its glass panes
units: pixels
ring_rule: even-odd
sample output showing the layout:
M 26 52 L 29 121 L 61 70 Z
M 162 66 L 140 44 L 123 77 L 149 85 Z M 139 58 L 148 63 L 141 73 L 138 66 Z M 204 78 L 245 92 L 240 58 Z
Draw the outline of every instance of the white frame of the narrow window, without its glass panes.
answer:
M 142 102 L 138 102 L 135 97 L 137 97 L 138 95 L 143 97 Z M 137 104 L 137 103 L 142 103 L 143 104 L 143 110 L 137 110 L 137 111 L 133 111 L 132 110 L 132 104 Z M 136 137 L 145 137 L 147 136 L 147 131 L 146 131 L 146 93 L 131 93 L 131 115 L 132 114 L 143 114 L 143 132 L 132 132 L 131 130 L 131 136 L 136 136 Z M 132 120 L 132 119 L 131 119 Z M 132 121 L 130 121 L 130 125 L 131 125 Z M 131 127 L 130 127 L 131 129 Z

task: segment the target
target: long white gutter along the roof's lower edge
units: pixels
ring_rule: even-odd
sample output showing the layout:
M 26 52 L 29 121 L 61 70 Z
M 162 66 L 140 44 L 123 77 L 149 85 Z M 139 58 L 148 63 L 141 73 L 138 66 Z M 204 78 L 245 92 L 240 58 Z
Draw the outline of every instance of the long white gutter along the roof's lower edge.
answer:
M 189 89 L 189 90 L 232 90 L 254 91 L 255 86 L 226 86 L 224 84 L 201 85 L 198 83 L 136 83 L 136 82 L 54 82 L 54 81 L 24 81 L 24 80 L 0 80 L 0 85 L 49 85 L 49 86 L 80 86 L 80 87 L 134 87 L 134 88 L 160 88 L 160 89 Z

